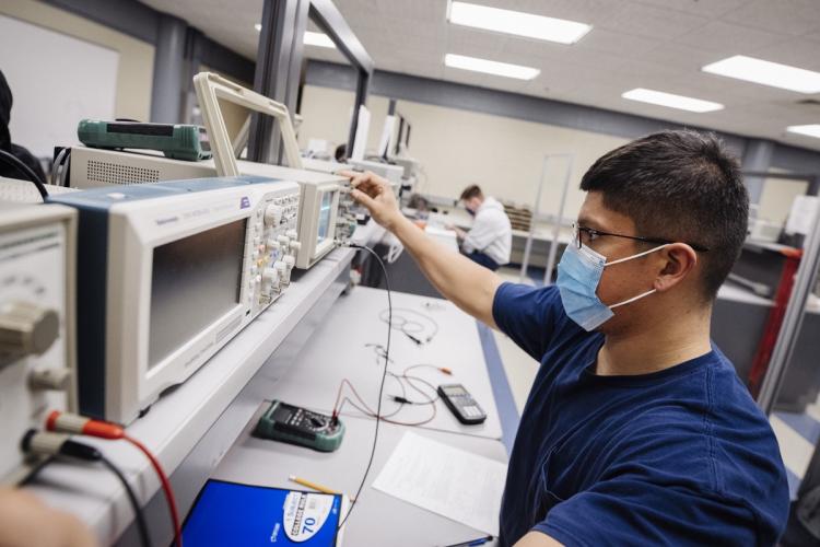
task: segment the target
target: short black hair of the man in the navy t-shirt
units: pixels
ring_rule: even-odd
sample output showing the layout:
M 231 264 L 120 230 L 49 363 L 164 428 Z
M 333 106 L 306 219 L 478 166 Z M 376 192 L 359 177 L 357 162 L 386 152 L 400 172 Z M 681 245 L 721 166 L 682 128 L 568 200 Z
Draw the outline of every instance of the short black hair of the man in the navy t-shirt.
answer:
M 749 195 L 740 164 L 712 132 L 669 130 L 599 158 L 581 189 L 632 219 L 637 235 L 706 247 L 699 253 L 703 296 L 714 300 L 740 254 Z

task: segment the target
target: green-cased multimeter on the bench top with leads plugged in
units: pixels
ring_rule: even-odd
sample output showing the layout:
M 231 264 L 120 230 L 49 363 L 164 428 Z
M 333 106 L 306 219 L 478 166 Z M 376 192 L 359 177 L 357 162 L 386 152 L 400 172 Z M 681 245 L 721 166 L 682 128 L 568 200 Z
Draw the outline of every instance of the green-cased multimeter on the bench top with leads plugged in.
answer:
M 344 423 L 330 416 L 273 400 L 254 430 L 254 435 L 333 452 L 341 445 Z

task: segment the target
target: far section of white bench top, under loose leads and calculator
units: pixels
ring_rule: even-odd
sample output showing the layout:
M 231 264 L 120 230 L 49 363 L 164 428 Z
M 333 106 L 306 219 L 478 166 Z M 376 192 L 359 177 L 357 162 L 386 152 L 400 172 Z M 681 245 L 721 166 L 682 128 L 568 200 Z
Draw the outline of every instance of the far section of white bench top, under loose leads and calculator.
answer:
M 393 306 L 396 324 L 400 323 L 398 316 L 401 316 L 405 310 L 411 310 L 433 318 L 438 325 L 438 333 L 429 344 L 419 346 L 394 328 L 390 345 L 393 362 L 388 371 L 401 374 L 407 366 L 413 364 L 446 366 L 453 371 L 453 375 L 446 375 L 432 368 L 414 369 L 412 375 L 436 386 L 464 384 L 488 415 L 487 421 L 481 424 L 464 426 L 440 401 L 435 418 L 423 427 L 485 439 L 501 439 L 501 420 L 495 408 L 476 319 L 459 311 L 452 302 L 414 294 L 394 292 Z M 379 319 L 379 314 L 387 314 L 387 293 L 384 290 L 356 287 L 350 295 L 340 298 L 325 317 L 323 325 L 316 329 L 313 342 L 298 356 L 296 365 L 279 380 L 274 386 L 276 393 L 281 394 L 285 403 L 330 414 L 339 384 L 342 379 L 348 379 L 371 408 L 375 409 L 382 380 L 379 371 L 384 365 L 384 359 L 377 357 L 374 346 L 384 347 L 387 337 L 387 324 Z M 412 312 L 406 316 L 417 318 Z M 344 393 L 350 395 L 348 388 Z M 408 393 L 408 398 L 422 399 L 421 395 L 413 391 Z M 401 392 L 397 381 L 388 376 L 383 399 L 385 415 L 390 414 L 398 405 L 389 400 L 390 395 L 401 395 Z M 362 416 L 349 405 L 344 407 L 344 414 Z M 431 415 L 426 405 L 408 405 L 395 419 L 418 422 Z

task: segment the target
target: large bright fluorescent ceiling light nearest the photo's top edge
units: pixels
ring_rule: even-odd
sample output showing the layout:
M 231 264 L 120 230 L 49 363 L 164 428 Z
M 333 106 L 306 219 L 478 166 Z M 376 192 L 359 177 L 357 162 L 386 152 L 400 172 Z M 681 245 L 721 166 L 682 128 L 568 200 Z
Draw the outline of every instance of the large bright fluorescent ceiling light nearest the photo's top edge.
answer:
M 456 25 L 472 26 L 560 44 L 575 44 L 593 30 L 591 25 L 575 21 L 467 2 L 450 2 L 447 19 Z

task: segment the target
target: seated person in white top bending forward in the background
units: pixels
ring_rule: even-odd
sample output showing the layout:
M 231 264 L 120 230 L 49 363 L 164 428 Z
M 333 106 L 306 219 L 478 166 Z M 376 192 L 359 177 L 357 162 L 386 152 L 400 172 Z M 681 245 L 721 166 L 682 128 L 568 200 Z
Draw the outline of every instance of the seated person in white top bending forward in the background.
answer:
M 470 185 L 459 198 L 467 212 L 475 217 L 472 228 L 465 232 L 450 226 L 461 241 L 461 252 L 471 260 L 493 271 L 509 263 L 513 229 L 504 206 L 493 197 L 484 197 L 481 188 Z

